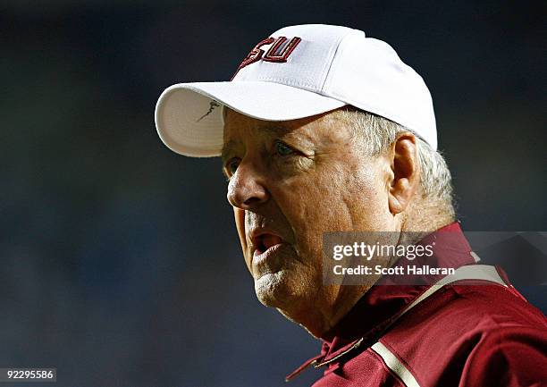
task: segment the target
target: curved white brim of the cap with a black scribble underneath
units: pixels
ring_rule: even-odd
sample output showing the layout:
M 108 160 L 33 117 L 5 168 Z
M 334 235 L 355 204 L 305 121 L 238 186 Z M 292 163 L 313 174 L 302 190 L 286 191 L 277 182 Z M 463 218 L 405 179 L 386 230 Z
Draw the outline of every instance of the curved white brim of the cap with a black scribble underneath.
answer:
M 296 120 L 346 103 L 302 88 L 264 81 L 179 83 L 156 104 L 156 129 L 164 144 L 185 156 L 220 156 L 223 109 L 265 121 Z

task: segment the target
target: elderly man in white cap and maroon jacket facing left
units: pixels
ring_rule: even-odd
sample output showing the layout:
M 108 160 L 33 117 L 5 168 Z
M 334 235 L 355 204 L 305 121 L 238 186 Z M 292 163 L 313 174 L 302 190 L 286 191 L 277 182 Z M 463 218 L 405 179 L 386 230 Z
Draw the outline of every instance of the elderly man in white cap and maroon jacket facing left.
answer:
M 222 156 L 257 298 L 324 341 L 288 379 L 313 365 L 316 386 L 547 383 L 545 318 L 500 270 L 476 265 L 431 96 L 391 46 L 345 27 L 280 29 L 231 81 L 167 88 L 156 127 L 175 152 Z M 327 283 L 327 231 L 382 231 L 454 270 Z M 381 269 L 400 262 L 374 257 Z

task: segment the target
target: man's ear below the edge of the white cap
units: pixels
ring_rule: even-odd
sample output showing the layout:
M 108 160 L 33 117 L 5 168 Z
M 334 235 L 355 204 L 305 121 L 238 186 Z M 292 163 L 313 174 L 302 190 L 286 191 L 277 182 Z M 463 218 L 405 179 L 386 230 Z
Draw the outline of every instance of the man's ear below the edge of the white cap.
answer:
M 391 181 L 388 205 L 392 215 L 405 211 L 420 182 L 417 139 L 410 132 L 402 132 L 391 144 Z

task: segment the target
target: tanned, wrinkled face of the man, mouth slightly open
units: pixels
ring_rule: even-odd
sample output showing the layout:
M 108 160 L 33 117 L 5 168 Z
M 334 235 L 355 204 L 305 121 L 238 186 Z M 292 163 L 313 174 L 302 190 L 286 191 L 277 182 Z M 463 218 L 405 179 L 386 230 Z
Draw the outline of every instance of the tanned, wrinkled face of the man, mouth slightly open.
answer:
M 266 122 L 229 110 L 223 170 L 258 299 L 288 315 L 333 305 L 325 231 L 390 231 L 382 156 L 366 157 L 336 113 Z

